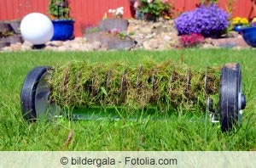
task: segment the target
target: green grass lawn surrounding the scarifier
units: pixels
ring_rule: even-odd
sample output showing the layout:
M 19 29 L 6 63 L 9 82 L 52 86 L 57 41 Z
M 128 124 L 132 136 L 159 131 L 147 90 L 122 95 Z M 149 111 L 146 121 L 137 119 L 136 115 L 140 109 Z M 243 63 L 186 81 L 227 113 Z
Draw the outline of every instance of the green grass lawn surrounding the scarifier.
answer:
M 68 61 L 125 61 L 131 65 L 146 59 L 178 61 L 206 67 L 228 62 L 241 64 L 247 109 L 241 126 L 229 134 L 219 124 L 180 110 L 164 120 L 67 119 L 28 123 L 20 112 L 20 88 L 36 66 Z M 189 49 L 163 52 L 0 53 L 0 150 L 255 150 L 256 149 L 256 50 Z M 66 143 L 73 132 L 70 143 Z

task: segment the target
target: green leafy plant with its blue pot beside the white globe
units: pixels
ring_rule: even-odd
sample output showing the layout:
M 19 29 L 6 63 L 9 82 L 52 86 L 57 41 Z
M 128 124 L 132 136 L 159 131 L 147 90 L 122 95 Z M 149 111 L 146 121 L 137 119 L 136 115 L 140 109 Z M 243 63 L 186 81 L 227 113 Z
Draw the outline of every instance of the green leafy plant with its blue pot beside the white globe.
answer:
M 73 39 L 74 20 L 70 18 L 68 0 L 50 0 L 49 14 L 54 25 L 52 41 L 66 41 Z

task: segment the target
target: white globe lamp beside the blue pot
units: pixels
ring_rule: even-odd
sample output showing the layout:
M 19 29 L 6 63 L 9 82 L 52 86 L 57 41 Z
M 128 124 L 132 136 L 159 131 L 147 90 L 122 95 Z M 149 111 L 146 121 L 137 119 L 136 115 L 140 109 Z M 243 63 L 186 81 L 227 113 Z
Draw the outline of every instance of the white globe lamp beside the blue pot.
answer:
M 54 26 L 46 15 L 32 13 L 21 20 L 20 32 L 25 41 L 33 45 L 43 45 L 54 35 Z

